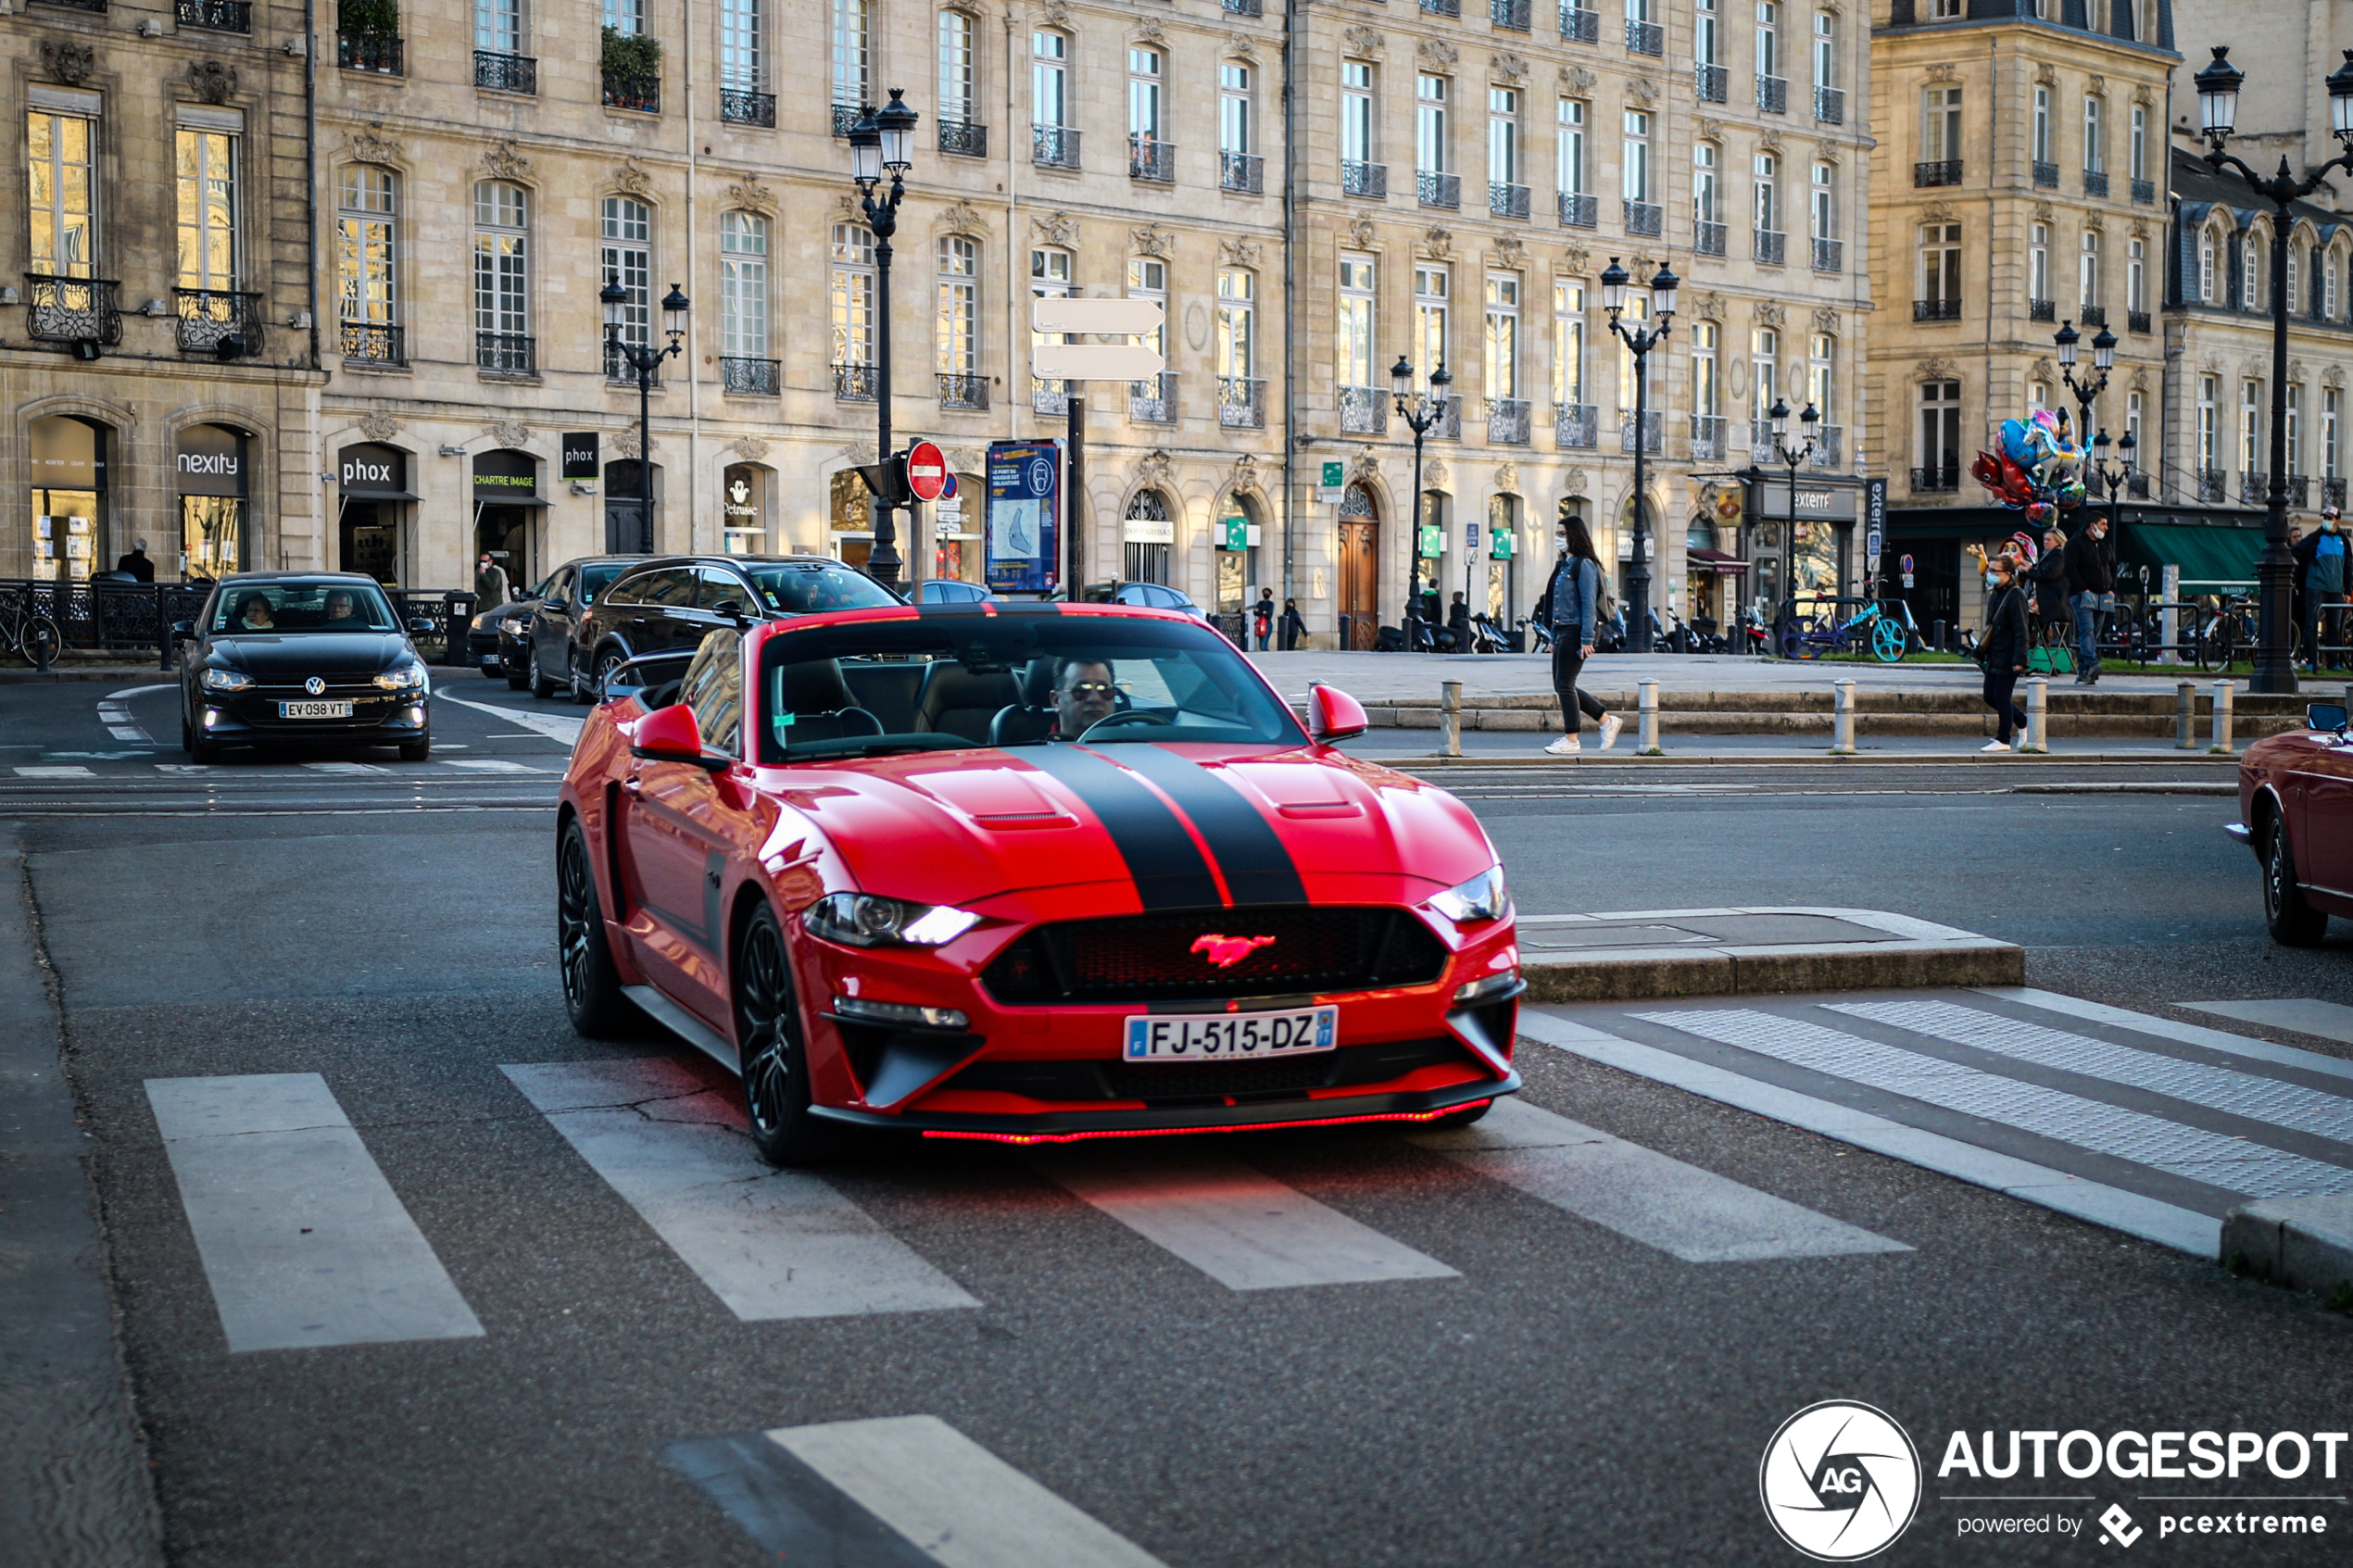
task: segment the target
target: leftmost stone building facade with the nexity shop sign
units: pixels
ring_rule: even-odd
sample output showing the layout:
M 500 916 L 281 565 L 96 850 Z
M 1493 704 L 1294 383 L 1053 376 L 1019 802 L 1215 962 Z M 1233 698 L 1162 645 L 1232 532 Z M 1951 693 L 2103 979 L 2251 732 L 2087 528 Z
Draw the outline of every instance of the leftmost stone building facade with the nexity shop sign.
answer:
M 0 578 L 162 581 L 318 552 L 301 7 L 0 16 Z

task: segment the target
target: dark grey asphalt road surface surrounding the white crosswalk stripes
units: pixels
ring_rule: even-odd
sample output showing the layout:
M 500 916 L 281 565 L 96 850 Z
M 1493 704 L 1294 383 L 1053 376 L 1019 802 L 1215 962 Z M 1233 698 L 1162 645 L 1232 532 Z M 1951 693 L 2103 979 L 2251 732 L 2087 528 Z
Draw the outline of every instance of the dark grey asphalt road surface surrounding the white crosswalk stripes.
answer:
M 440 703 L 428 764 L 162 773 L 186 759 L 113 731 L 174 736 L 172 698 L 122 696 L 134 722 L 106 724 L 104 691 L 0 689 L 0 832 L 56 973 L 174 1563 L 828 1561 L 755 1544 L 668 1455 L 868 1418 L 936 1415 L 1172 1568 L 1798 1561 L 1765 1528 L 1758 1458 L 1831 1396 L 1899 1413 L 1922 1448 L 2346 1427 L 2341 1314 L 1534 1044 L 1532 1105 L 1906 1251 L 1687 1262 L 1442 1150 L 1299 1133 L 1209 1157 L 1442 1274 L 1245 1291 L 1073 1197 L 1071 1154 L 927 1145 L 828 1185 L 976 1305 L 744 1321 L 501 1072 L 666 1058 L 725 1091 L 666 1039 L 565 1025 L 546 809 L 565 748 L 508 715 L 579 710 L 454 677 L 445 696 L 504 712 Z M 59 766 L 89 771 L 19 773 Z M 2021 940 L 2033 985 L 2120 1006 L 2353 1001 L 2344 938 L 2261 938 L 2226 799 L 1984 792 L 2111 773 L 2158 778 L 1459 783 L 1532 912 L 1861 905 Z M 231 1352 L 148 1088 L 214 1074 L 320 1074 L 482 1333 Z M 1202 1180 L 1198 1150 L 1141 1159 Z M 1885 1561 L 2101 1552 L 1960 1537 L 1965 1512 L 1932 1479 Z M 2318 1563 L 2341 1542 L 2200 1556 Z

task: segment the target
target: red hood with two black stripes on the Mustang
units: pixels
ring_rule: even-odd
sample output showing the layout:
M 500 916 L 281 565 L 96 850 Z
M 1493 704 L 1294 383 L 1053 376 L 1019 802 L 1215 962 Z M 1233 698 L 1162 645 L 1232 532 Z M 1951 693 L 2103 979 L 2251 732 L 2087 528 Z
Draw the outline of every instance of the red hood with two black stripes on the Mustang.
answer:
M 873 893 L 1106 884 L 1108 910 L 1419 903 L 1494 865 L 1445 790 L 1334 750 L 1120 743 L 774 771 Z

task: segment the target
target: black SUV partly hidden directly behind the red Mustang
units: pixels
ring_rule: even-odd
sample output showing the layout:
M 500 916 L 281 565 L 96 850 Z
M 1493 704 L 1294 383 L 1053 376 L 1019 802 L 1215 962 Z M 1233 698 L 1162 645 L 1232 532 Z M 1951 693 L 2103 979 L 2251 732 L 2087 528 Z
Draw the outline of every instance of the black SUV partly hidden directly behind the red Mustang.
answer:
M 826 555 L 671 555 L 619 576 L 579 618 L 574 693 L 605 686 L 614 665 L 640 654 L 692 651 L 722 625 L 807 616 L 821 609 L 901 604 L 882 583 Z

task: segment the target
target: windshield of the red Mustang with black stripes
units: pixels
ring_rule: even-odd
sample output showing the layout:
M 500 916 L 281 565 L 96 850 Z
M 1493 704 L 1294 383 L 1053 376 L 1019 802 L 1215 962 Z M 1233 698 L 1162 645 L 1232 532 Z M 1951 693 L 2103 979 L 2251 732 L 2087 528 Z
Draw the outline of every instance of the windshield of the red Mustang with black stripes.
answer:
M 1304 745 L 1289 708 L 1205 625 L 955 616 L 824 625 L 760 651 L 760 762 L 972 745 Z

